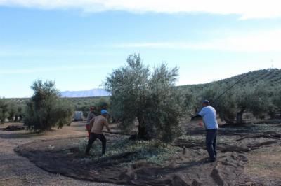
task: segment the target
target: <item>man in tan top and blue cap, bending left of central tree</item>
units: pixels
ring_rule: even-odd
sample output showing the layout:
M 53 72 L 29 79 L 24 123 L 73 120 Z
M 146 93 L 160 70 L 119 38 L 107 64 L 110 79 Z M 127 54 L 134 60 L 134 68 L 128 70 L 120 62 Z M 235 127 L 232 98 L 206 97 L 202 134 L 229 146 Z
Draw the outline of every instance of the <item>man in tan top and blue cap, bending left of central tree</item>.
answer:
M 93 127 L 91 127 L 91 135 L 85 152 L 86 155 L 89 155 L 91 146 L 93 145 L 93 142 L 96 141 L 96 138 L 98 138 L 102 143 L 102 155 L 105 154 L 106 138 L 103 135 L 103 127 L 105 126 L 107 131 L 111 131 L 106 119 L 107 114 L 107 110 L 101 110 L 101 115 L 96 116 L 91 120 L 90 125 L 93 124 Z

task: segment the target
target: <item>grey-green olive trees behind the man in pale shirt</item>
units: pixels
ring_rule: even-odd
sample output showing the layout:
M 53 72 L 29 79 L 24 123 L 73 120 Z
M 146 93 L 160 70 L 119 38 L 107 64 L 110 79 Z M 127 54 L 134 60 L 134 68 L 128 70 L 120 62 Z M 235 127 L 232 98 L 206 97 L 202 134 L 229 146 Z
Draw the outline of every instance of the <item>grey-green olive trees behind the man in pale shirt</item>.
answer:
M 202 90 L 201 95 L 197 98 L 199 100 L 209 99 L 218 111 L 221 120 L 240 124 L 243 122 L 243 114 L 246 112 L 256 118 L 263 118 L 266 115 L 275 117 L 276 113 L 281 110 L 280 86 L 270 87 L 262 81 L 254 85 L 247 84 L 242 87 L 238 85 L 214 101 L 228 86 L 216 83 Z

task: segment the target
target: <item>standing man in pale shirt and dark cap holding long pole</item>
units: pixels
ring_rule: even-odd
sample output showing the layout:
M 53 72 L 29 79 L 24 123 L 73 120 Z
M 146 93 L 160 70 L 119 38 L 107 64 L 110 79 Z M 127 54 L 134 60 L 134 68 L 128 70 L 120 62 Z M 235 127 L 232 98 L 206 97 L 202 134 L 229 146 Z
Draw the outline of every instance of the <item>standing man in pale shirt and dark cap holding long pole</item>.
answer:
M 203 101 L 202 110 L 197 113 L 191 120 L 195 117 L 202 117 L 204 122 L 204 127 L 207 131 L 206 134 L 206 148 L 209 153 L 211 162 L 216 162 L 216 134 L 218 133 L 218 122 L 216 120 L 216 110 L 210 106 L 208 100 Z

